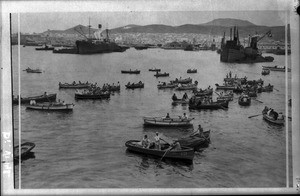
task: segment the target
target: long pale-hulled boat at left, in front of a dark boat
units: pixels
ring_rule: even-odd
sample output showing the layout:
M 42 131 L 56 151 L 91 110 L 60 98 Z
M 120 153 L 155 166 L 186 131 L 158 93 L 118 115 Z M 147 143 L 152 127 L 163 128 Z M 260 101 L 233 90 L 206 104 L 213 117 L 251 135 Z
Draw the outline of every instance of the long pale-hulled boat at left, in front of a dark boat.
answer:
M 55 103 L 40 103 L 28 105 L 26 109 L 31 110 L 44 110 L 44 111 L 71 111 L 73 110 L 74 104 L 65 104 L 60 102 Z

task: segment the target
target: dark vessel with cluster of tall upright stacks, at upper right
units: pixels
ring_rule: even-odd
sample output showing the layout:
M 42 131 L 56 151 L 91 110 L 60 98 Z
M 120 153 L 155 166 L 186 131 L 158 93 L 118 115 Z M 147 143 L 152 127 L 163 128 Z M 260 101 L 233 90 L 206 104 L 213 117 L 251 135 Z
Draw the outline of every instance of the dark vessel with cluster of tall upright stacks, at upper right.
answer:
M 258 63 L 258 62 L 273 62 L 271 56 L 263 57 L 257 48 L 257 43 L 266 35 L 271 36 L 271 31 L 268 31 L 263 36 L 258 35 L 249 37 L 248 47 L 241 45 L 239 41 L 239 32 L 237 27 L 230 29 L 230 40 L 225 43 L 225 32 L 221 42 L 220 61 L 228 63 Z

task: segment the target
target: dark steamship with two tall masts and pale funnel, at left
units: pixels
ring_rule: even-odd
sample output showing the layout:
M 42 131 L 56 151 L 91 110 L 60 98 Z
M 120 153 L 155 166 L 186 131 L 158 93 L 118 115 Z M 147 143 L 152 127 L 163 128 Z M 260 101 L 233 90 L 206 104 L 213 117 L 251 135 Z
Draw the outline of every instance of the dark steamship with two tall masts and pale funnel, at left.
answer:
M 89 27 L 89 32 L 91 25 Z M 80 33 L 76 29 L 78 33 L 84 36 L 85 40 L 77 40 L 76 48 L 78 54 L 96 54 L 96 53 L 110 53 L 110 52 L 124 52 L 128 47 L 122 47 L 112 41 L 108 36 L 108 29 L 106 29 L 106 37 L 102 36 L 101 24 L 98 25 L 98 31 L 94 33 L 95 38 L 91 38 L 90 33 L 89 37 L 86 37 L 83 33 Z

